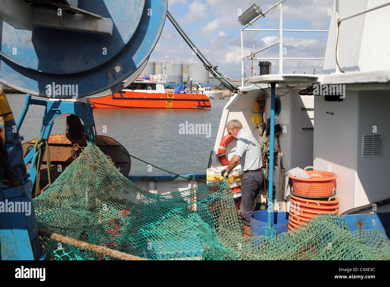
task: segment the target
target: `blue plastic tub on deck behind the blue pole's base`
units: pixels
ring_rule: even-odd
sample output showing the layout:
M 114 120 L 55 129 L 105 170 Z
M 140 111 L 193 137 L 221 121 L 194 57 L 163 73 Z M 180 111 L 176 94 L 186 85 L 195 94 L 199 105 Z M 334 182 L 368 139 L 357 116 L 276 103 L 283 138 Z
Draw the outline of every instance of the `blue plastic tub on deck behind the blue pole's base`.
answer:
M 261 236 L 263 227 L 268 225 L 268 210 L 257 210 L 250 216 L 250 236 Z M 276 233 L 289 231 L 289 213 L 272 212 L 272 226 L 275 227 Z

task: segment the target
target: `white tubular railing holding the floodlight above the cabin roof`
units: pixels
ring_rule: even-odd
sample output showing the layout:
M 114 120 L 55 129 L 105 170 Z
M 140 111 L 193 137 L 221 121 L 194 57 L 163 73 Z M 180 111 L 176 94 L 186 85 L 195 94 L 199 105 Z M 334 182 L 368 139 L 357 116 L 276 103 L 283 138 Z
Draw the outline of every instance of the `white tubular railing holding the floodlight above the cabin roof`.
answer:
M 241 29 L 241 85 L 244 86 L 244 60 L 252 60 L 252 55 L 256 55 L 257 53 L 260 53 L 264 50 L 267 50 L 275 45 L 279 45 L 279 57 L 278 58 L 255 58 L 256 60 L 279 60 L 279 73 L 283 73 L 283 60 L 323 60 L 324 58 L 321 57 L 321 52 L 320 52 L 320 57 L 283 57 L 283 31 L 285 32 L 329 32 L 329 30 L 298 30 L 298 29 L 283 29 L 283 2 L 286 0 L 282 0 L 278 2 L 277 4 L 273 5 L 271 8 L 269 8 L 267 11 L 263 12 L 259 16 L 257 16 L 254 20 L 250 21 L 248 24 L 246 24 L 242 29 Z M 279 29 L 246 29 L 249 26 L 252 26 L 252 24 L 262 18 L 264 14 L 271 13 L 276 9 L 276 7 L 279 6 L 280 8 L 280 20 L 279 20 Z M 279 31 L 279 41 L 262 48 L 258 51 L 255 51 L 254 53 L 245 56 L 244 57 L 244 46 L 243 46 L 243 31 Z M 321 44 L 320 44 L 321 45 Z M 321 47 L 320 47 L 321 49 Z M 321 51 L 321 50 L 320 50 Z

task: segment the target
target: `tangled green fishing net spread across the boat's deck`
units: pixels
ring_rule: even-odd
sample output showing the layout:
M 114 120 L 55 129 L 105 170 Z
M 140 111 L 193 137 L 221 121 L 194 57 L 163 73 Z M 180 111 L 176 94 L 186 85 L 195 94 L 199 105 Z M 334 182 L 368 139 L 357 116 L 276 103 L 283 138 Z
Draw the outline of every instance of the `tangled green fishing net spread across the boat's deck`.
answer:
M 226 180 L 148 193 L 94 144 L 33 202 L 38 228 L 147 259 L 390 259 L 384 235 L 349 232 L 341 216 L 321 215 L 304 229 L 244 238 Z M 47 237 L 41 242 L 49 259 L 115 259 Z

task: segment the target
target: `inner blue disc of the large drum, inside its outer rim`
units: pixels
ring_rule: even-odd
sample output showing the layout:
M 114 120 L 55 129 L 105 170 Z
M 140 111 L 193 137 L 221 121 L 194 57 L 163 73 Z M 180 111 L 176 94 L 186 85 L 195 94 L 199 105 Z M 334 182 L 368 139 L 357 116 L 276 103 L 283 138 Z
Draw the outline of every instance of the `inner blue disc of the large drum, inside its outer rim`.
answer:
M 27 31 L 3 22 L 1 54 L 19 66 L 56 74 L 79 73 L 109 61 L 137 30 L 145 0 L 126 1 L 126 5 L 108 0 L 94 1 L 93 5 L 89 2 L 80 0 L 78 8 L 112 18 L 112 36 L 46 27 Z M 107 49 L 106 55 L 103 48 Z

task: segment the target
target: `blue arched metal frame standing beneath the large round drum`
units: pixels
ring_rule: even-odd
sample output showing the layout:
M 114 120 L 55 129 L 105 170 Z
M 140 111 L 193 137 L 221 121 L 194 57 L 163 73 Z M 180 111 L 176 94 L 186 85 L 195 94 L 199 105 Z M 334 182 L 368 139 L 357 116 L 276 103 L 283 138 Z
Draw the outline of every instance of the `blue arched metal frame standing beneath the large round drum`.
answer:
M 21 115 L 18 120 L 17 127 L 18 129 L 23 123 L 23 119 L 26 116 L 28 111 L 28 107 L 30 105 L 43 105 L 46 107 L 45 113 L 43 115 L 42 128 L 41 133 L 39 134 L 40 139 L 43 138 L 49 139 L 52 125 L 54 123 L 54 119 L 61 114 L 74 114 L 78 116 L 84 123 L 85 136 L 87 137 L 87 144 L 90 142 L 96 143 L 95 134 L 93 131 L 93 119 L 92 119 L 92 109 L 90 103 L 83 102 L 71 102 L 64 100 L 35 100 L 32 99 L 30 95 L 26 96 L 25 107 L 21 112 Z M 44 154 L 45 147 L 42 147 L 42 153 Z M 31 175 L 32 184 L 35 184 L 36 176 L 37 176 L 37 159 L 38 159 L 38 151 L 35 152 L 34 149 L 30 150 L 30 152 L 24 158 L 25 164 L 31 162 L 30 170 L 28 173 Z

